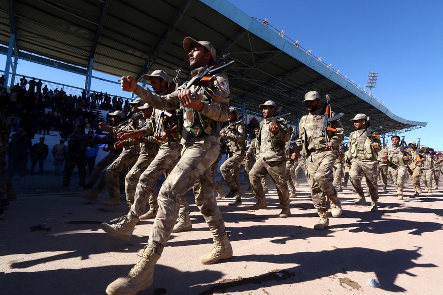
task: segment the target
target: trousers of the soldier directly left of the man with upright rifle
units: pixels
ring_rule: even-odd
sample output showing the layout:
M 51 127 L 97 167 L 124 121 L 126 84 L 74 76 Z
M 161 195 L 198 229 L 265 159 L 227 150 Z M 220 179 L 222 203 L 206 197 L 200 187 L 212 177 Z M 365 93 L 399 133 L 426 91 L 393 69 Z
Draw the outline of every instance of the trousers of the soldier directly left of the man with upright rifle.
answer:
M 266 175 L 269 174 L 277 188 L 279 202 L 283 208 L 289 207 L 289 188 L 287 183 L 285 162 L 265 162 L 258 158 L 249 172 L 249 180 L 256 197 L 264 197 L 263 178 L 266 181 Z

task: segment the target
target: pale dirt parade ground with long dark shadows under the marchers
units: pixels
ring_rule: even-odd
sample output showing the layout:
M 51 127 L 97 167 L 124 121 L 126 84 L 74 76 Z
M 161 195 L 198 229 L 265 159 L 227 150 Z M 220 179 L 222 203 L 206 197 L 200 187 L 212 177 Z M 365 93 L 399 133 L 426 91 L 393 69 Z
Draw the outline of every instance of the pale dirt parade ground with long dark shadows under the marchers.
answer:
M 125 201 L 104 207 L 107 192 L 89 202 L 74 185 L 60 191 L 61 176 L 13 182 L 19 196 L 0 219 L 1 294 L 105 294 L 139 260 L 153 220 L 141 220 L 129 241 L 100 229 L 125 213 Z M 215 265 L 199 263 L 212 236 L 188 193 L 193 229 L 171 235 L 153 285 L 139 294 L 443 294 L 442 190 L 413 198 L 408 184 L 397 200 L 391 186 L 372 213 L 370 202 L 353 205 L 357 196 L 348 187 L 339 194 L 342 216 L 315 231 L 318 215 L 305 184 L 288 218 L 277 217 L 276 190 L 269 189 L 266 210 L 248 210 L 250 193 L 242 206 L 219 201 L 234 256 Z

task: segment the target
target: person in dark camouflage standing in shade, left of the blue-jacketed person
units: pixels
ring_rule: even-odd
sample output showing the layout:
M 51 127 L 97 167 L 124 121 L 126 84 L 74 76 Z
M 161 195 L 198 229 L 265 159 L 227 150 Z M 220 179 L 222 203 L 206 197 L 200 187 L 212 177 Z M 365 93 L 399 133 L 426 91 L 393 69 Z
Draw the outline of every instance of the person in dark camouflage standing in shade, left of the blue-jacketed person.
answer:
M 67 141 L 67 156 L 64 163 L 63 185 L 61 189 L 67 189 L 71 181 L 72 172 L 77 165 L 79 172 L 79 186 L 83 187 L 86 180 L 86 139 L 85 127 L 77 124 L 74 133 Z

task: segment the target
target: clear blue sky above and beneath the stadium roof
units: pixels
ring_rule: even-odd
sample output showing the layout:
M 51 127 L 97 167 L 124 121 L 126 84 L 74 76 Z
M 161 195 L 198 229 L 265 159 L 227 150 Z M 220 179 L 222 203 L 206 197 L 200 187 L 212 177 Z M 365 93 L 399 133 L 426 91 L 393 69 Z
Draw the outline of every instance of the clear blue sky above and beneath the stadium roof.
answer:
M 428 122 L 405 132 L 406 141 L 443 150 L 443 2 L 426 1 L 263 1 L 229 0 L 246 14 L 269 24 L 357 85 L 369 71 L 379 73 L 372 94 L 404 119 Z M 0 55 L 0 66 L 5 67 Z M 19 61 L 17 72 L 84 87 L 84 77 Z M 94 76 L 118 78 L 94 72 Z M 92 81 L 92 89 L 128 96 L 116 84 Z

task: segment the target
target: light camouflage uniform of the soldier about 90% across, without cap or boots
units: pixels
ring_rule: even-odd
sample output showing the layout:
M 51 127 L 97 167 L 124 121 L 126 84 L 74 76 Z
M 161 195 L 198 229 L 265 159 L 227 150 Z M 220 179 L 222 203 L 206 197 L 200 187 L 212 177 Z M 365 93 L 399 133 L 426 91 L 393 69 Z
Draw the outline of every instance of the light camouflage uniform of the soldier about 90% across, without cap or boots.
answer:
M 382 157 L 387 159 L 388 173 L 397 187 L 398 199 L 403 198 L 404 181 L 406 180 L 407 164 L 403 160 L 403 153 L 400 151 L 400 144 L 388 146 L 382 152 Z

